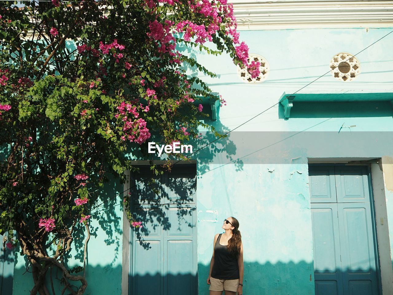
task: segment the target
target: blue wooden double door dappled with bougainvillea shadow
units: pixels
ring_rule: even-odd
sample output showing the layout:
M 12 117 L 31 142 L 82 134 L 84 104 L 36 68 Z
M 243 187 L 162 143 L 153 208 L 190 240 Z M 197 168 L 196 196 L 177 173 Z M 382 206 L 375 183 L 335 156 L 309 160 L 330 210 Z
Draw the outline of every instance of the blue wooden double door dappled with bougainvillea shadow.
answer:
M 156 178 L 157 195 L 144 182 L 132 190 L 131 294 L 197 294 L 195 166 L 174 166 Z M 141 169 L 134 184 L 151 176 Z

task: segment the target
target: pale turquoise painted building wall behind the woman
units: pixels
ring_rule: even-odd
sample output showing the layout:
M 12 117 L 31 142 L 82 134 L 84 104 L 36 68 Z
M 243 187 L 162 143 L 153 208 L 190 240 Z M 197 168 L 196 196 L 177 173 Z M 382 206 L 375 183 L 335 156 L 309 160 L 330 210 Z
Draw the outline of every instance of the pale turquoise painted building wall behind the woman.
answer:
M 259 84 L 242 82 L 228 55 L 195 52 L 199 63 L 219 75 L 202 78 L 228 102 L 213 125 L 223 132 L 239 126 L 277 103 L 283 92 L 296 92 L 325 74 L 337 53 L 356 54 L 390 30 L 241 31 L 249 52 L 262 55 L 270 65 L 268 78 Z M 389 35 L 357 55 L 361 74 L 354 81 L 336 81 L 328 73 L 301 92 L 316 94 L 318 99 L 317 94 L 323 93 L 392 92 L 392 38 Z M 305 105 L 298 118 L 289 120 L 275 105 L 223 139 L 225 146 L 216 142 L 215 146 L 226 148 L 223 153 L 213 155 L 206 149 L 196 154 L 198 294 L 208 294 L 213 237 L 222 232 L 222 220 L 228 216 L 240 222 L 245 294 L 314 294 L 308 158 L 393 158 L 393 112 L 358 105 L 354 102 L 342 110 L 333 102 L 329 115 Z M 296 113 L 296 101 L 292 111 Z M 343 124 L 356 127 L 338 133 Z M 226 164 L 230 160 L 237 161 Z M 393 199 L 393 187 L 384 189 L 386 201 Z M 123 186 L 114 185 L 102 199 L 122 191 Z M 102 211 L 91 221 L 86 294 L 121 294 L 123 212 L 114 202 L 108 205 L 109 213 Z M 386 206 L 392 225 L 393 201 Z M 83 235 L 75 241 L 79 247 L 81 241 Z M 393 250 L 390 233 L 389 241 Z M 83 264 L 82 251 L 73 251 L 70 266 Z M 23 257 L 16 254 L 15 259 L 13 294 L 27 294 L 33 286 L 31 274 L 25 273 Z

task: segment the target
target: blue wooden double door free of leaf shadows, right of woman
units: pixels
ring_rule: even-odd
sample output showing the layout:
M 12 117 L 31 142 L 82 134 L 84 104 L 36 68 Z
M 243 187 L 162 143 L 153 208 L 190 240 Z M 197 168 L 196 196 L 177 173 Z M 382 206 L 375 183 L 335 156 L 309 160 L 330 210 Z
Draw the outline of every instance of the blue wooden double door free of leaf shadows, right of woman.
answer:
M 378 295 L 369 177 L 364 166 L 310 166 L 316 295 Z

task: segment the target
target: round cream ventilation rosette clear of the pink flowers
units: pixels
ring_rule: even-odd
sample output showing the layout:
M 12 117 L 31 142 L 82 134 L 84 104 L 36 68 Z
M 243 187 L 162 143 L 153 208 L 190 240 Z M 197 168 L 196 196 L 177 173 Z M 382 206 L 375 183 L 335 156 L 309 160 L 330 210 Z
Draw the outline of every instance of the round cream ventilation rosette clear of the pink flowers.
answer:
M 352 54 L 342 52 L 334 55 L 330 61 L 330 72 L 333 77 L 343 82 L 349 82 L 356 79 L 360 74 L 360 63 Z

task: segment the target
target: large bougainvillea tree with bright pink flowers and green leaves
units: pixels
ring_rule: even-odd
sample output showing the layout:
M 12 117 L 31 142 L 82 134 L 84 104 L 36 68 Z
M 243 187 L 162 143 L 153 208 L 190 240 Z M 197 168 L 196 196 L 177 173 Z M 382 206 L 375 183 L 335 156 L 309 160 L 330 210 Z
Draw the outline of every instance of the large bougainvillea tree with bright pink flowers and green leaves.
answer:
M 64 257 L 78 227 L 86 247 L 108 175 L 126 181 L 125 155 L 143 155 L 147 141 L 186 142 L 209 127 L 198 98 L 211 90 L 186 69 L 215 74 L 179 48 L 228 53 L 252 75 L 258 67 L 227 0 L 23 4 L 0 4 L 0 230 L 33 267 L 31 294 L 51 293 L 50 267 L 62 271 L 63 292 L 83 294 L 84 274 Z

